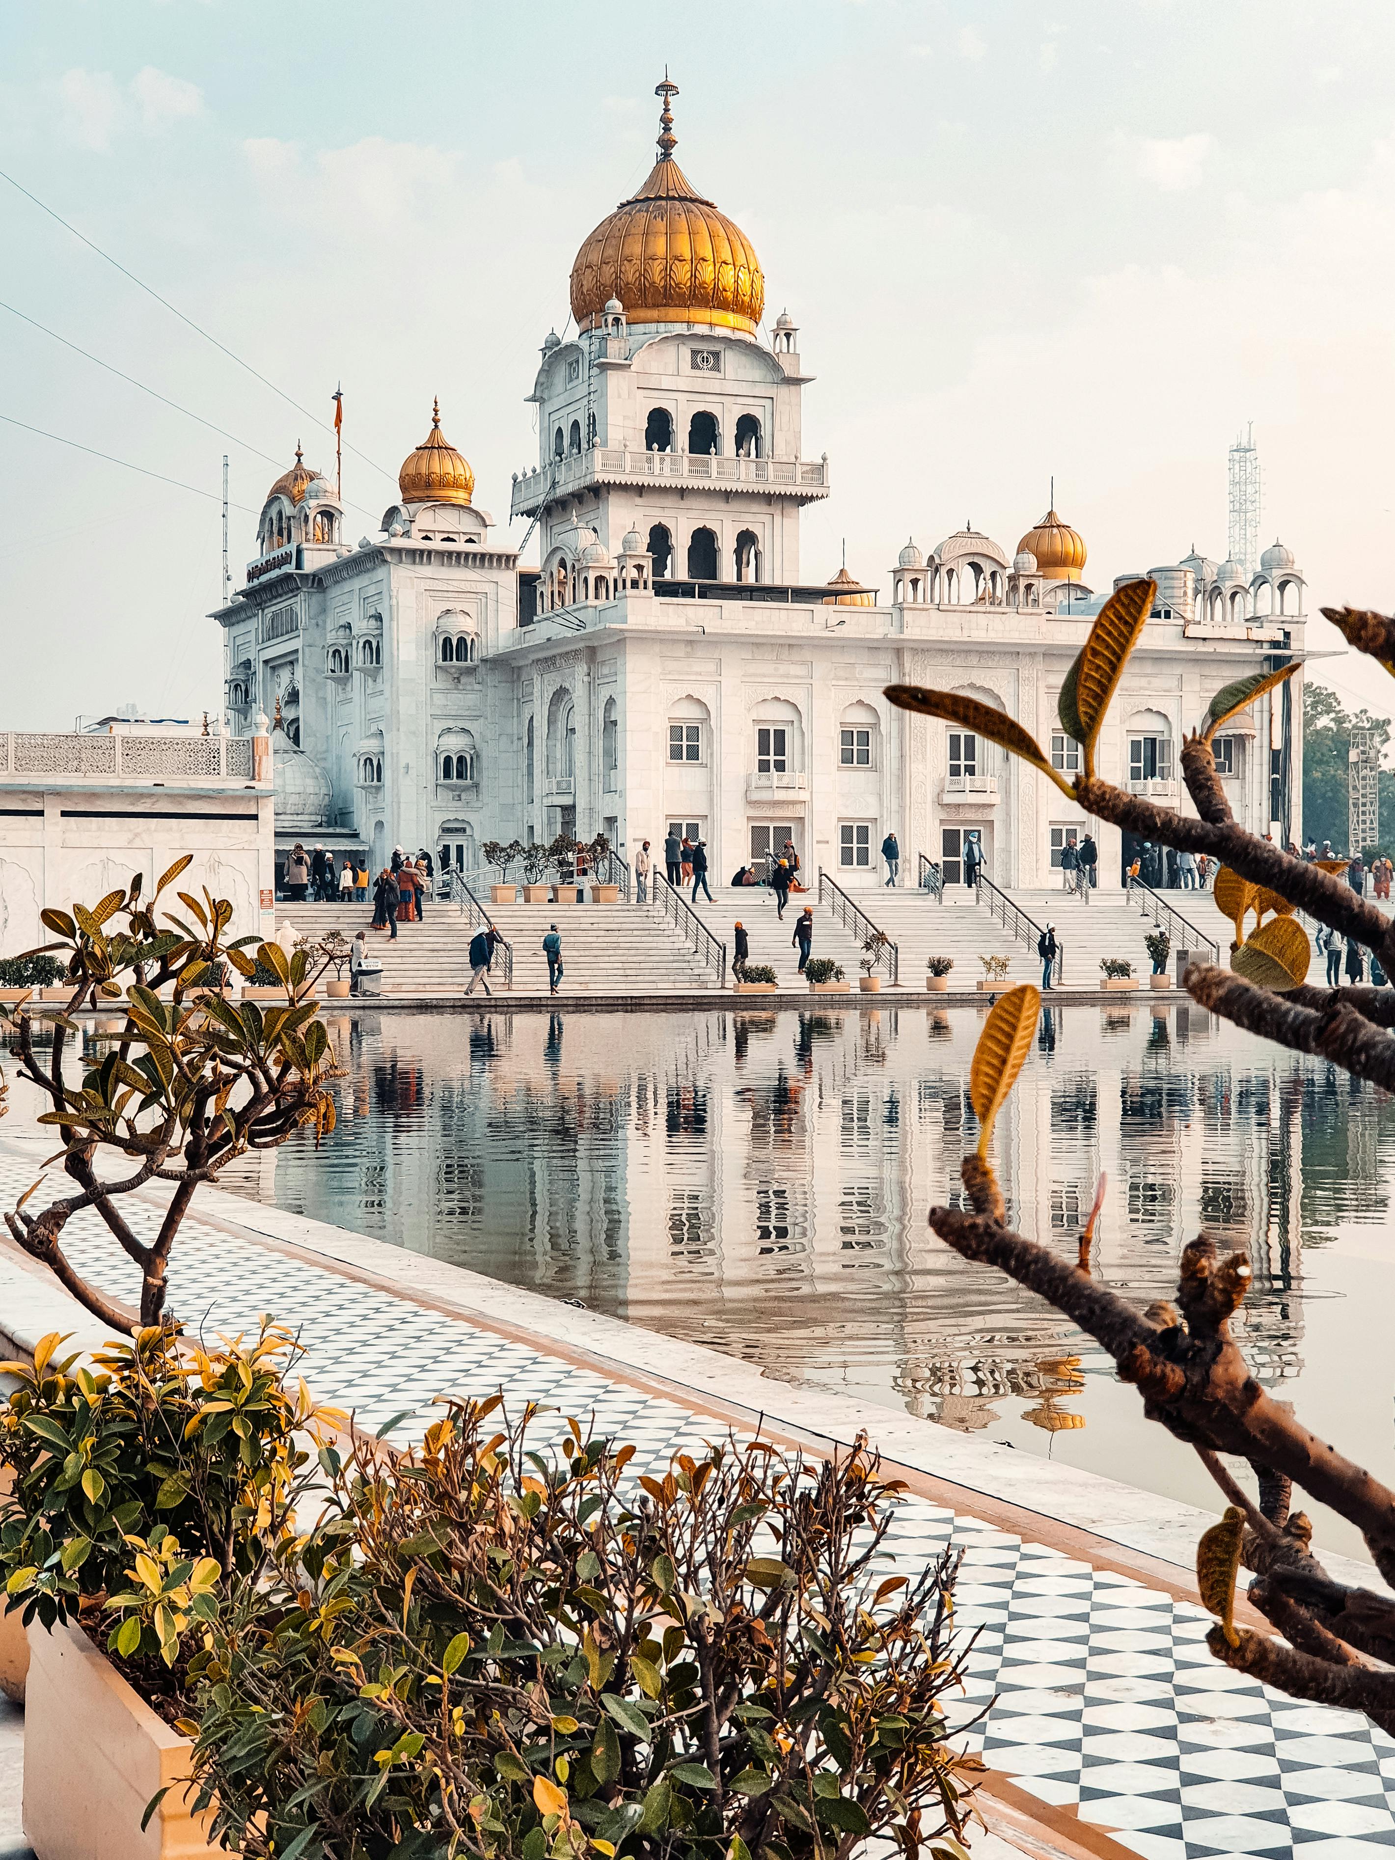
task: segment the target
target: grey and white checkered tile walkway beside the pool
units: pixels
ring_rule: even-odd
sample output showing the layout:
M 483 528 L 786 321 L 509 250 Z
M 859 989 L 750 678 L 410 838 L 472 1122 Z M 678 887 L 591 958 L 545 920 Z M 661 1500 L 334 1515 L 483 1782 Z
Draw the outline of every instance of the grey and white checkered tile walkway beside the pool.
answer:
M 0 1155 L 0 1200 L 13 1205 L 30 1181 L 26 1162 Z M 141 1231 L 156 1226 L 154 1211 L 128 1216 Z M 134 1293 L 130 1261 L 95 1220 L 73 1224 L 69 1252 L 110 1291 Z M 634 1442 L 636 1471 L 662 1469 L 711 1432 L 670 1401 L 197 1218 L 175 1250 L 171 1304 L 208 1334 L 273 1311 L 299 1328 L 305 1375 L 324 1401 L 366 1427 L 415 1406 L 394 1430 L 402 1440 L 422 1427 L 422 1388 L 502 1388 L 513 1401 L 593 1414 L 601 1432 Z M 978 1631 L 958 1722 L 997 1696 L 971 1734 L 993 1769 L 1114 1830 L 1142 1860 L 1295 1847 L 1313 1860 L 1391 1856 L 1395 1739 L 1218 1667 L 1205 1648 L 1209 1618 L 1196 1607 L 924 1499 L 902 1503 L 889 1536 L 902 1562 L 950 1542 L 965 1551 L 960 1626 Z

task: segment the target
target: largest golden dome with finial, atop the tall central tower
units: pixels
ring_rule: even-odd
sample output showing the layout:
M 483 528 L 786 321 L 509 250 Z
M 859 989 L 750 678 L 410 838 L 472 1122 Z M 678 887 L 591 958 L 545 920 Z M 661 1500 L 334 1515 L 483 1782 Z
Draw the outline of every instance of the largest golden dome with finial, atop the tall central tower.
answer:
M 634 324 L 711 324 L 755 335 L 764 309 L 764 273 L 751 242 L 698 193 L 673 160 L 675 138 L 664 82 L 658 160 L 629 201 L 591 232 L 571 268 L 571 314 L 593 329 L 610 298 Z

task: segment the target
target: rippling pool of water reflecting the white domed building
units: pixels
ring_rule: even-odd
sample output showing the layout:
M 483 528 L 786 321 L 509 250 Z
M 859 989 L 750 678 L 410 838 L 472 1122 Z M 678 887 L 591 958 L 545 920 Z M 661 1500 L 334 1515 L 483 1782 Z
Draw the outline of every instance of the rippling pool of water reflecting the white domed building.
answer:
M 982 1010 L 329 1017 L 340 1123 L 225 1185 L 1025 1453 L 1215 1505 L 1081 1334 L 926 1226 L 976 1142 Z M 1170 1298 L 1200 1228 L 1256 1267 L 1242 1343 L 1395 1479 L 1395 1107 L 1146 997 L 1055 1008 L 995 1161 L 1014 1222 Z M 1360 1553 L 1319 1520 L 1319 1540 Z

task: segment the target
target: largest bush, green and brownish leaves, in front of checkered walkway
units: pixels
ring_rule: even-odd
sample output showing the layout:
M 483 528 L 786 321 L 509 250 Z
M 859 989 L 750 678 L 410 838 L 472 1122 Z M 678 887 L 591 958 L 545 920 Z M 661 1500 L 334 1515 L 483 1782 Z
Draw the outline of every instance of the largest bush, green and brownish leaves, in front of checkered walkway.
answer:
M 193 1773 L 251 1854 L 843 1860 L 958 1836 L 958 1561 L 887 1572 L 865 1443 L 560 1449 L 450 1402 L 363 1442 L 331 1505 L 242 1579 L 201 1665 Z M 333 1455 L 331 1455 L 333 1456 Z M 937 1830 L 937 1834 L 936 1834 Z

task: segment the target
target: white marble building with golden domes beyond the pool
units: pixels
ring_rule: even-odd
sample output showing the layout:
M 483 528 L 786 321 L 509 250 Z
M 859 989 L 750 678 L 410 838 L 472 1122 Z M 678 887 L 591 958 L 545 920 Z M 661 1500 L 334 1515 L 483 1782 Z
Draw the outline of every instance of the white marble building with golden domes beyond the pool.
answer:
M 913 541 L 889 599 L 800 562 L 800 512 L 831 491 L 804 439 L 798 329 L 763 326 L 750 242 L 673 160 L 670 99 L 645 184 L 582 244 L 569 340 L 549 335 L 528 404 L 539 458 L 515 474 L 539 569 L 489 541 L 439 415 L 402 467 L 381 536 L 348 547 L 331 485 L 299 459 L 272 487 L 247 584 L 216 618 L 234 729 L 277 701 L 288 835 L 432 846 L 604 831 L 627 854 L 670 824 L 725 876 L 790 837 L 844 884 L 889 830 L 958 876 L 967 831 L 1004 887 L 1043 884 L 1084 820 L 990 744 L 887 705 L 891 683 L 1014 714 L 1064 770 L 1056 692 L 1103 599 L 1055 510 L 1008 552 L 965 526 Z M 1103 772 L 1181 800 L 1177 751 L 1211 694 L 1304 649 L 1304 580 L 1276 543 L 1256 573 L 1192 552 L 1159 582 L 1101 744 Z M 1129 578 L 1114 577 L 1114 586 Z M 1107 590 L 1105 590 L 1107 591 Z M 1237 818 L 1300 837 L 1296 679 L 1222 738 Z M 299 755 L 296 753 L 299 748 Z M 307 802 L 309 796 L 309 802 Z M 1118 870 L 1101 835 L 1101 880 Z

